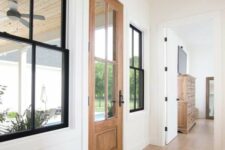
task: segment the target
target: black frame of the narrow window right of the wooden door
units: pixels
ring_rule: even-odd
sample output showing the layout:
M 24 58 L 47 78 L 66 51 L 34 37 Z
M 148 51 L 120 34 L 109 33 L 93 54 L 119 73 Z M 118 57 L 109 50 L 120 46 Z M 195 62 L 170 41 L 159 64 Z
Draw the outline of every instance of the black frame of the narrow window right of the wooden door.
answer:
M 141 105 L 141 107 L 136 107 L 136 102 L 137 102 L 137 96 L 136 96 L 136 92 L 134 93 L 134 109 L 130 109 L 130 112 L 137 112 L 137 111 L 141 111 L 144 110 L 144 69 L 143 69 L 143 60 L 142 60 L 142 53 L 143 53 L 143 33 L 141 30 L 139 30 L 137 27 L 135 27 L 134 25 L 130 24 L 130 29 L 132 31 L 131 33 L 131 50 L 132 50 L 132 54 L 131 54 L 131 58 L 132 62 L 130 62 L 130 70 L 133 70 L 135 72 L 134 75 L 134 85 L 135 85 L 135 91 L 137 90 L 137 83 L 136 83 L 136 72 L 139 73 L 139 104 Z M 139 66 L 135 67 L 134 64 L 134 32 L 137 32 L 139 34 Z M 131 91 L 130 91 L 131 92 Z M 130 101 L 130 100 L 129 100 Z

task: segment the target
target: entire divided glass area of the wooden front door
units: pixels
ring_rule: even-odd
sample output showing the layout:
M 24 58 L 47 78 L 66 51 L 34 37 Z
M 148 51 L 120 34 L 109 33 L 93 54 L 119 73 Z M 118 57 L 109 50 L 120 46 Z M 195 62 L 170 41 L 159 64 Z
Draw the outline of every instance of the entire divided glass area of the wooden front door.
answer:
M 104 0 L 95 9 L 95 121 L 115 115 L 115 15 Z

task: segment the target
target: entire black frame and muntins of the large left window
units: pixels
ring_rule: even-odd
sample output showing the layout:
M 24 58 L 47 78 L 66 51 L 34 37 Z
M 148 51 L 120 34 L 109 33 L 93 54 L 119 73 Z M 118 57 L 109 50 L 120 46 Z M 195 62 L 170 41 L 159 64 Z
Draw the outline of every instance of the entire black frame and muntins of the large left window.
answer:
M 31 61 L 31 119 L 32 128 L 30 130 L 15 132 L 12 134 L 0 135 L 0 142 L 22 138 L 30 135 L 53 131 L 66 128 L 69 126 L 69 50 L 66 49 L 66 1 L 61 0 L 61 46 L 51 45 L 33 40 L 33 9 L 34 0 L 30 0 L 30 27 L 29 38 L 19 37 L 7 32 L 0 32 L 0 39 L 25 43 L 31 46 L 32 61 Z M 52 51 L 62 53 L 62 123 L 50 125 L 41 128 L 35 128 L 35 80 L 36 80 L 36 47 L 46 48 Z

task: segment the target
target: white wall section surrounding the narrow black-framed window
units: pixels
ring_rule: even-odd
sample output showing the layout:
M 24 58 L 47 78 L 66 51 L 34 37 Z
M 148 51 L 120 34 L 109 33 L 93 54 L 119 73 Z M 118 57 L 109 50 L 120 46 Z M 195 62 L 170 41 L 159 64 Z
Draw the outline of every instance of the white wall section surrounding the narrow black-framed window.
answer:
M 124 4 L 124 150 L 141 150 L 149 144 L 149 1 L 121 0 Z M 129 24 L 143 31 L 143 61 L 145 70 L 145 110 L 129 112 Z

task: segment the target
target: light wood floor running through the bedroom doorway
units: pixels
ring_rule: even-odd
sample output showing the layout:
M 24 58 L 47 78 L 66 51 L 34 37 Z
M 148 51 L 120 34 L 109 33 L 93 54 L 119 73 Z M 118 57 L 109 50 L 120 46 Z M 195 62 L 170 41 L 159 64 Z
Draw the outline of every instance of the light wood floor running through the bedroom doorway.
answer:
M 189 134 L 179 134 L 169 145 L 144 150 L 213 150 L 213 121 L 198 120 Z

